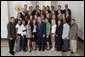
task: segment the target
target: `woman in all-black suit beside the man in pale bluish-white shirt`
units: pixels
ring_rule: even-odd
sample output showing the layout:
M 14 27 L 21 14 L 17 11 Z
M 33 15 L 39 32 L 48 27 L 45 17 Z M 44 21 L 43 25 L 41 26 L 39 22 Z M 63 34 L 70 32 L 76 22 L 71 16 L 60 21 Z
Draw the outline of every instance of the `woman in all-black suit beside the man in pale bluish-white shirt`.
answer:
M 57 26 L 57 31 L 56 31 L 57 51 L 61 51 L 62 50 L 62 31 L 63 31 L 63 26 L 61 24 L 61 20 L 58 20 L 58 26 Z

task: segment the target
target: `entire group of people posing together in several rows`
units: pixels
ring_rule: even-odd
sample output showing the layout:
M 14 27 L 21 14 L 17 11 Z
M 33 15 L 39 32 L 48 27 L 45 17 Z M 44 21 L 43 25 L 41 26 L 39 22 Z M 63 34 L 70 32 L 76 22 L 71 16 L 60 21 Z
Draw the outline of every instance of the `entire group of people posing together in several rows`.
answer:
M 15 40 L 17 53 L 36 51 L 37 47 L 39 51 L 51 49 L 67 52 L 69 47 L 72 53 L 77 51 L 78 26 L 75 19 L 71 18 L 71 10 L 67 4 L 64 10 L 61 5 L 58 5 L 58 10 L 54 8 L 43 6 L 40 10 L 37 5 L 34 10 L 30 6 L 28 11 L 25 4 L 16 19 L 10 18 L 7 25 L 10 54 L 15 53 Z

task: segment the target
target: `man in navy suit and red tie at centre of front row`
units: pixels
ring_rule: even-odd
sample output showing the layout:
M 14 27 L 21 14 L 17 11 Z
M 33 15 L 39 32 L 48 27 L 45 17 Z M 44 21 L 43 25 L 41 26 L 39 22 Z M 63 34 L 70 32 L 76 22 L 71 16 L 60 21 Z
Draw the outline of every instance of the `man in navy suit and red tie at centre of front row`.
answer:
M 39 51 L 45 50 L 45 23 L 41 21 L 41 17 L 38 17 L 37 23 L 37 37 L 38 37 L 38 47 Z

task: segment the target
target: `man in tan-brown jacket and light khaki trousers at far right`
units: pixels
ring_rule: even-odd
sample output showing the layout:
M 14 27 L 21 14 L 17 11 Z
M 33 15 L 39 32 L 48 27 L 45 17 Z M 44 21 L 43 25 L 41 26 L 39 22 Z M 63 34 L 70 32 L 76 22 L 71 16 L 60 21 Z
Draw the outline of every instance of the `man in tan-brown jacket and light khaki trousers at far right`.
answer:
M 75 53 L 77 50 L 77 37 L 78 37 L 78 25 L 75 23 L 75 20 L 72 19 L 69 33 L 71 53 Z

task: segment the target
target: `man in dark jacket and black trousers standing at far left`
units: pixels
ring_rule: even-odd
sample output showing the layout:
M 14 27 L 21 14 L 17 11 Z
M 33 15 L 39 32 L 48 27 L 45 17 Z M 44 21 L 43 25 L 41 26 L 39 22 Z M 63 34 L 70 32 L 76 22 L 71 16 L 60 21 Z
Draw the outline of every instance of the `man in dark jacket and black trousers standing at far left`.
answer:
M 15 18 L 11 17 L 10 22 L 7 25 L 8 30 L 8 42 L 9 42 L 9 53 L 14 55 L 14 43 L 16 38 Z

